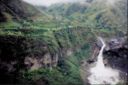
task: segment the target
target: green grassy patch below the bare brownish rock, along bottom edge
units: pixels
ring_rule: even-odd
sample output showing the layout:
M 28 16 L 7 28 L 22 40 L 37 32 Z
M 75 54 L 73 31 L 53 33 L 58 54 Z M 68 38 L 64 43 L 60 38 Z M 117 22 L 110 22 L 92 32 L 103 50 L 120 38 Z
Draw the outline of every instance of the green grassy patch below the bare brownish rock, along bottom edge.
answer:
M 72 77 L 61 73 L 59 68 L 52 70 L 41 68 L 35 71 L 27 71 L 23 73 L 23 78 L 29 81 L 36 81 L 42 78 L 49 82 L 48 85 L 82 85 Z

